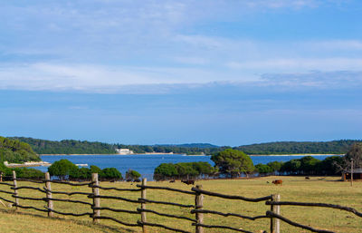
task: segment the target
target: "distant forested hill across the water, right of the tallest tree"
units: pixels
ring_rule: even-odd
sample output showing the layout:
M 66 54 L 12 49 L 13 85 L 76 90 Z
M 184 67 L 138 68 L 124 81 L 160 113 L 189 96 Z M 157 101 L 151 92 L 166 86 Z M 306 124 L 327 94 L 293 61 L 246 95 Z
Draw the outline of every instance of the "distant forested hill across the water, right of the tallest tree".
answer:
M 356 142 L 361 141 L 280 141 L 239 146 L 234 149 L 243 150 L 247 154 L 345 154 Z

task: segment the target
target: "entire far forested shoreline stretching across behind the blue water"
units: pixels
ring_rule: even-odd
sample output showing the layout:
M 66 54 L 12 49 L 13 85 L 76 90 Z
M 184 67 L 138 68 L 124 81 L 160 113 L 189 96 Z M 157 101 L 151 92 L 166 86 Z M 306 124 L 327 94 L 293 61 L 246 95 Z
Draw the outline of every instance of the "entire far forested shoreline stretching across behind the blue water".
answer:
M 180 153 L 215 155 L 231 147 L 217 147 L 207 143 L 181 145 L 126 145 L 90 141 L 46 141 L 32 138 L 13 138 L 29 143 L 39 154 L 113 154 L 116 149 L 129 149 L 135 153 Z M 233 147 L 246 154 L 345 154 L 357 140 L 340 141 L 280 141 Z

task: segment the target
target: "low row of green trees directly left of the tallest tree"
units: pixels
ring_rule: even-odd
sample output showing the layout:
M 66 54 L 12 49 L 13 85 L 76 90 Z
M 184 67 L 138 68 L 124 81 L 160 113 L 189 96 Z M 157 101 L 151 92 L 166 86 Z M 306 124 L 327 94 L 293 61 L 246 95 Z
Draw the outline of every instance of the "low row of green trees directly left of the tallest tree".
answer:
M 205 161 L 161 163 L 154 171 L 154 180 L 202 179 L 217 174 L 217 169 Z

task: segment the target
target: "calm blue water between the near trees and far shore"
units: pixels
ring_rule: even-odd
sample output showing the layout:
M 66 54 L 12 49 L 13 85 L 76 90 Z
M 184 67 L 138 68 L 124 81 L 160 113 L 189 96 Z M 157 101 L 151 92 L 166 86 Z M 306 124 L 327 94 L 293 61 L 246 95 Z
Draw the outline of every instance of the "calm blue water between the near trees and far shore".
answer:
M 313 156 L 316 159 L 324 160 L 330 155 Z M 255 164 L 266 164 L 270 161 L 289 161 L 300 159 L 303 156 L 251 156 Z M 54 162 L 56 160 L 67 159 L 71 162 L 80 164 L 87 163 L 88 165 L 96 165 L 100 169 L 116 168 L 124 176 L 126 171 L 137 170 L 146 177 L 152 180 L 153 171 L 161 163 L 176 163 L 176 162 L 192 162 L 192 161 L 207 161 L 214 166 L 214 162 L 210 160 L 210 156 L 185 156 L 180 154 L 165 155 L 165 154 L 142 154 L 142 155 L 52 155 L 41 156 L 43 161 Z M 47 167 L 36 167 L 36 169 L 46 171 Z

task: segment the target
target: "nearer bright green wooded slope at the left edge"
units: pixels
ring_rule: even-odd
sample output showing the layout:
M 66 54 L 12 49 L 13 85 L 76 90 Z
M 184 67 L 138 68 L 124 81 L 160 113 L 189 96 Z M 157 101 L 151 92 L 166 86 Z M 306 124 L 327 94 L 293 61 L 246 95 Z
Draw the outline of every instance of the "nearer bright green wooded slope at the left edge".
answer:
M 25 162 L 39 161 L 39 156 L 25 142 L 0 137 L 0 161 Z

